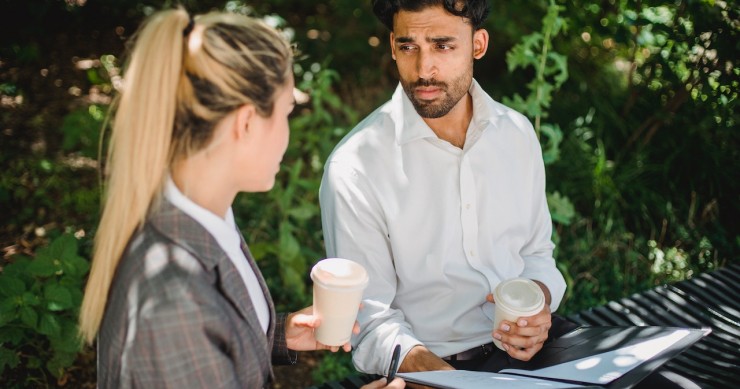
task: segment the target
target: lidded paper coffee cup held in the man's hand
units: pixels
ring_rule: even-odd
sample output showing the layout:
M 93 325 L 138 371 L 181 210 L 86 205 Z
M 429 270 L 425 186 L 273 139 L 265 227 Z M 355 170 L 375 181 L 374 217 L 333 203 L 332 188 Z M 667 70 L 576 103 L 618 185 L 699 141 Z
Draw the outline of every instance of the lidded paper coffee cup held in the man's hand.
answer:
M 501 282 L 493 290 L 495 309 L 493 314 L 493 328 L 498 329 L 501 320 L 516 322 L 520 317 L 532 316 L 545 307 L 545 293 L 532 280 L 526 278 L 512 278 Z M 493 344 L 501 350 L 504 347 L 501 341 L 494 338 Z

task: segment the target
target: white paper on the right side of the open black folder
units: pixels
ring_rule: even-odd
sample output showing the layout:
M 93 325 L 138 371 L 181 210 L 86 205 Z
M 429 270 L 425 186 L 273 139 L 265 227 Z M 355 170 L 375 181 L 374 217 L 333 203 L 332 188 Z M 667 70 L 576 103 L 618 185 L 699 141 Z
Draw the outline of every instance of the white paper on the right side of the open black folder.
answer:
M 639 364 L 653 358 L 689 334 L 677 329 L 667 335 L 648 339 L 632 346 L 595 354 L 538 370 L 504 369 L 500 373 L 522 374 L 561 380 L 606 384 L 623 376 Z

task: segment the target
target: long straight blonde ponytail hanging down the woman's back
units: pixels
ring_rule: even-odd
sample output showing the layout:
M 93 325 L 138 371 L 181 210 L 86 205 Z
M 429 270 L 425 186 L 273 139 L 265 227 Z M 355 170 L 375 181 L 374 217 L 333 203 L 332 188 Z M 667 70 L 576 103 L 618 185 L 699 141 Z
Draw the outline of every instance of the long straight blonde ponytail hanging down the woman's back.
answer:
M 124 73 L 107 159 L 104 206 L 80 312 L 80 335 L 92 343 L 126 244 L 159 197 L 169 165 L 182 76 L 182 9 L 156 13 L 140 29 Z

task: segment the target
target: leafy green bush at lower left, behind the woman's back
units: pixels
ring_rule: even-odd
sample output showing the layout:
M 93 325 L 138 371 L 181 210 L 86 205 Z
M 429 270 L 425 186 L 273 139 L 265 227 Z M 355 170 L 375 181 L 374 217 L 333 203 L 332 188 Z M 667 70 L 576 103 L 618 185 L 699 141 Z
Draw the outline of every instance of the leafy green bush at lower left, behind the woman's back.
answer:
M 0 273 L 0 375 L 17 377 L 4 386 L 27 387 L 48 374 L 59 379 L 77 358 L 77 316 L 90 268 L 78 251 L 77 239 L 63 234 Z M 20 366 L 31 374 L 11 374 Z

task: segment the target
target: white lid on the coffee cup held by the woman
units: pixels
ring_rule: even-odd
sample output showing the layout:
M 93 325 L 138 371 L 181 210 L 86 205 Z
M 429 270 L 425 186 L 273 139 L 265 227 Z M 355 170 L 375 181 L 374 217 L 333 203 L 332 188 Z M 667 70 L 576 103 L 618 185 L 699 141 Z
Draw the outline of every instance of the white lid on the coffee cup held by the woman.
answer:
M 362 265 L 344 258 L 327 258 L 311 269 L 313 282 L 326 288 L 362 288 L 368 283 L 368 275 Z

